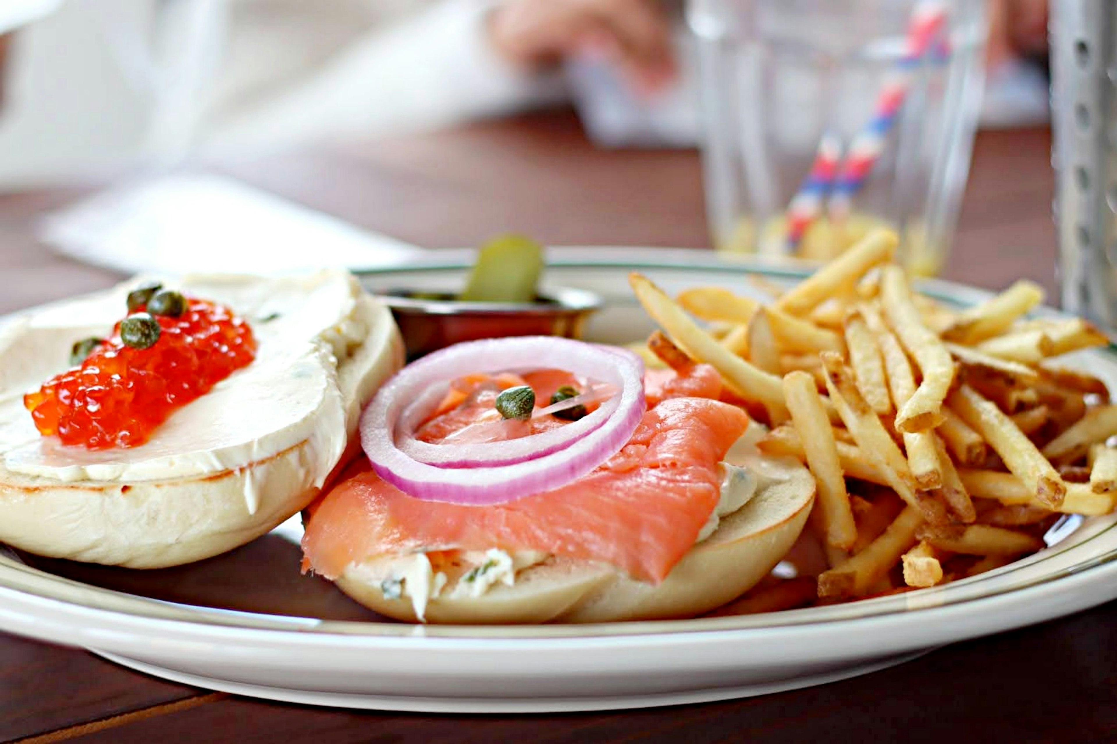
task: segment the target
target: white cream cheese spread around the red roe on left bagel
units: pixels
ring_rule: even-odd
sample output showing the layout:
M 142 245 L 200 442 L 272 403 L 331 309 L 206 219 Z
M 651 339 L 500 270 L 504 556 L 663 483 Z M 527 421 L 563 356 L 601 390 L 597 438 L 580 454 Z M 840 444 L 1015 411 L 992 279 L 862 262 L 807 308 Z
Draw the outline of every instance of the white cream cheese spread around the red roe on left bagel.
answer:
M 128 290 L 143 280 L 150 279 L 51 305 L 0 333 L 0 470 L 59 481 L 165 480 L 245 467 L 307 442 L 321 486 L 345 449 L 360 406 L 353 395 L 360 380 L 340 380 L 340 360 L 374 330 L 356 280 L 341 270 L 164 280 L 248 319 L 257 340 L 252 363 L 175 411 L 139 447 L 87 450 L 39 435 L 23 393 L 67 369 L 73 342 L 107 335 L 124 315 Z M 246 493 L 249 512 L 257 502 Z

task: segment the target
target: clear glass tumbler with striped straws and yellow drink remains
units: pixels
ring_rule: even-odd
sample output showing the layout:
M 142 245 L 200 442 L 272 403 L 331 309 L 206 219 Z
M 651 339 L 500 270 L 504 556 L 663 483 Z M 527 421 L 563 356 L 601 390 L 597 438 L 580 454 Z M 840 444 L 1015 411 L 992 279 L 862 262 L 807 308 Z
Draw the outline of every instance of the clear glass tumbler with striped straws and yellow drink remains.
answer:
M 936 274 L 970 170 L 984 6 L 689 0 L 715 247 L 825 260 L 884 223 L 913 271 Z

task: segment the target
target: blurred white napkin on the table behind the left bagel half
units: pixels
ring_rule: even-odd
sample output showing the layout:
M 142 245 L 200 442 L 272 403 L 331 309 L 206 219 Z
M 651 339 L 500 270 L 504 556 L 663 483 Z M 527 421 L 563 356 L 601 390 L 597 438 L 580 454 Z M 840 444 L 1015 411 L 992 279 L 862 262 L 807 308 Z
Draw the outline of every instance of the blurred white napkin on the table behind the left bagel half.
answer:
M 164 175 L 47 214 L 40 239 L 125 273 L 398 266 L 423 251 L 218 175 Z

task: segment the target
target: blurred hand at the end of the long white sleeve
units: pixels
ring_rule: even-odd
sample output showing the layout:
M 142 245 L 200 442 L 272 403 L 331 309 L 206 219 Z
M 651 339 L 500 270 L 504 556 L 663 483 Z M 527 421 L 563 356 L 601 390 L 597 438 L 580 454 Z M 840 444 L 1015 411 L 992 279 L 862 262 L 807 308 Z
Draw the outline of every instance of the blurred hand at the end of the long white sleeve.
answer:
M 509 0 L 493 11 L 488 30 L 497 53 L 522 67 L 601 59 L 643 95 L 677 74 L 670 19 L 657 0 Z

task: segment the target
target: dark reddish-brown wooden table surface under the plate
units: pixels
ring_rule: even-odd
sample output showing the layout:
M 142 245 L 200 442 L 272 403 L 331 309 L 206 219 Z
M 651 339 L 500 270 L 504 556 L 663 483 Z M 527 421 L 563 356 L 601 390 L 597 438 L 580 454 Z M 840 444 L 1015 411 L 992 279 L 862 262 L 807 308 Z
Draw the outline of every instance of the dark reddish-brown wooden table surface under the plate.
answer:
M 978 135 L 948 278 L 1054 297 L 1046 130 Z M 600 151 L 567 113 L 204 168 L 428 247 L 517 229 L 552 245 L 708 246 L 691 151 Z M 56 257 L 35 218 L 78 189 L 0 195 L 0 313 L 118 277 Z M 0 742 L 1099 741 L 1117 738 L 1117 602 L 847 681 L 726 703 L 536 716 L 265 703 L 0 633 Z

